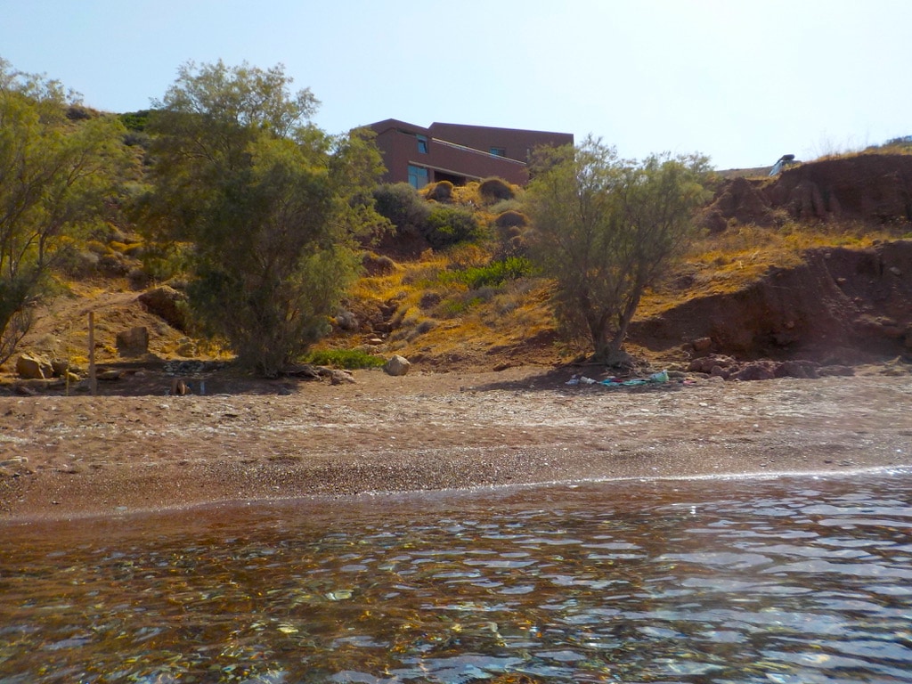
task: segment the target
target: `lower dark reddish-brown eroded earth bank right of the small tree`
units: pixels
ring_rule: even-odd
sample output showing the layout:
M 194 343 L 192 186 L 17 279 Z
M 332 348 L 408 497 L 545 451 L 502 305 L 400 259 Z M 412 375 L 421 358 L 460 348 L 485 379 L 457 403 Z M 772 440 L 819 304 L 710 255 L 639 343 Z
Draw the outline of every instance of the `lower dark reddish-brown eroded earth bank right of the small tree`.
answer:
M 849 365 L 912 355 L 912 241 L 819 248 L 731 294 L 635 321 L 629 339 L 693 357 L 809 358 Z

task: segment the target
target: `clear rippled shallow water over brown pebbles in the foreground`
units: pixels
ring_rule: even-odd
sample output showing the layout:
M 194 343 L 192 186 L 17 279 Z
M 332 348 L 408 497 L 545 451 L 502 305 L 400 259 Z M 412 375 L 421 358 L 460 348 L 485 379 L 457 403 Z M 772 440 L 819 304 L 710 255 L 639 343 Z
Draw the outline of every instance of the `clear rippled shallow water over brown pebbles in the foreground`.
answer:
M 0 683 L 912 682 L 912 474 L 0 527 Z

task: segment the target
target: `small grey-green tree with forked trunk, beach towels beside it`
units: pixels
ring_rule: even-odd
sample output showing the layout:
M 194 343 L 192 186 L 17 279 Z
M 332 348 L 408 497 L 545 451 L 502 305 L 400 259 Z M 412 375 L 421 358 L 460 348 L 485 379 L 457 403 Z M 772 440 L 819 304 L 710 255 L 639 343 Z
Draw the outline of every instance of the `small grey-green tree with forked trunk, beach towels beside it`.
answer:
M 525 195 L 532 254 L 554 277 L 558 319 L 586 330 L 596 360 L 623 358 L 640 298 L 688 244 L 708 170 L 699 155 L 620 160 L 592 138 L 538 153 Z

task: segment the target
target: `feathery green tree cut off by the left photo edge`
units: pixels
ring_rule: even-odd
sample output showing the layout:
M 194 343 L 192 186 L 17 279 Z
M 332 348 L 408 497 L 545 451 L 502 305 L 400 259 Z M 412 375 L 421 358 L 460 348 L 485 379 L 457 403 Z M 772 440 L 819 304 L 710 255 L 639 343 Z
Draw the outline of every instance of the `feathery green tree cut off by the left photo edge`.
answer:
M 119 121 L 67 119 L 76 103 L 57 81 L 0 59 L 0 362 L 51 293 L 69 238 L 101 221 L 128 163 Z

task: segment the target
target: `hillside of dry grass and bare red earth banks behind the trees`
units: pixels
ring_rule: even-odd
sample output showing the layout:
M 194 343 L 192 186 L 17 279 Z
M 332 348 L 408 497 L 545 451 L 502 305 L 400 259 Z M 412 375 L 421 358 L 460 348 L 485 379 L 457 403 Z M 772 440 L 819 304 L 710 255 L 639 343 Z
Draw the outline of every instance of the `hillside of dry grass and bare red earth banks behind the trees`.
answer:
M 323 346 L 399 354 L 427 371 L 554 366 L 579 357 L 585 346 L 562 341 L 554 329 L 548 283 L 519 275 L 478 285 L 466 277 L 494 254 L 522 246 L 521 225 L 497 225 L 515 205 L 485 202 L 478 192 L 474 184 L 430 199 L 472 206 L 495 239 L 446 251 L 415 236 L 368 246 L 366 274 Z M 644 368 L 687 368 L 710 355 L 841 366 L 912 358 L 912 156 L 856 155 L 802 164 L 774 179 L 720 179 L 701 220 L 705 236 L 640 307 L 628 347 Z M 98 260 L 108 267 L 67 278 L 65 294 L 36 312 L 21 351 L 67 360 L 84 376 L 92 311 L 96 361 L 127 368 L 120 377 L 134 379 L 130 391 L 165 391 L 155 374 L 169 362 L 230 360 L 140 302 L 155 284 L 140 277 L 135 239 L 112 234 Z M 148 331 L 149 353 L 122 355 L 118 333 L 138 326 Z M 17 356 L 3 368 L 8 391 Z M 146 382 L 137 368 L 145 368 L 139 378 Z

